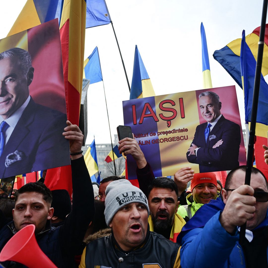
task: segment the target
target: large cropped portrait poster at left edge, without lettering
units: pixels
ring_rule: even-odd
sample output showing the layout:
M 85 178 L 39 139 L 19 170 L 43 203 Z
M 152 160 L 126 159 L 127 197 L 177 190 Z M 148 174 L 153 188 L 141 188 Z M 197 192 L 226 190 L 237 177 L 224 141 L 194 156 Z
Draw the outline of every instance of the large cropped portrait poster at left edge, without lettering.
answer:
M 0 178 L 70 164 L 58 20 L 0 40 Z

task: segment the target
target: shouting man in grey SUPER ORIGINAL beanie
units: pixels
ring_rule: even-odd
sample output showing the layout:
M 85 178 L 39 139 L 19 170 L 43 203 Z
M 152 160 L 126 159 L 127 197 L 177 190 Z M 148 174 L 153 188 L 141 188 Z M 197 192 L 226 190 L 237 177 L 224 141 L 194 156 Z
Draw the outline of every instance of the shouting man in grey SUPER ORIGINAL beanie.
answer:
M 105 220 L 112 233 L 86 246 L 80 268 L 180 266 L 179 245 L 150 232 L 147 198 L 139 188 L 117 180 L 105 193 Z

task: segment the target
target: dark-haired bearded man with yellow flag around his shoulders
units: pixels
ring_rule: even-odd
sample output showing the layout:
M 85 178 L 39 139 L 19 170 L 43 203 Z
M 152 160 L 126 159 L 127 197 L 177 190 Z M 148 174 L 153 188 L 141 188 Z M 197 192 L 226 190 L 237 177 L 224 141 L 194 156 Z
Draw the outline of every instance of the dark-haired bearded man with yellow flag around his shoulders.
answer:
M 176 183 L 167 177 L 153 179 L 148 187 L 148 203 L 150 231 L 176 242 L 177 236 L 185 224 L 183 217 L 176 214 L 180 204 Z

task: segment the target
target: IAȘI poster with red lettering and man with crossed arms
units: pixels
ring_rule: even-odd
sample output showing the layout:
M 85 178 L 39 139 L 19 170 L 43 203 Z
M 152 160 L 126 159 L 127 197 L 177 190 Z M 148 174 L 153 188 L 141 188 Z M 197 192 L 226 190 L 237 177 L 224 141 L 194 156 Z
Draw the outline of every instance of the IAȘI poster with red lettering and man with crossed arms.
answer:
M 235 86 L 123 101 L 123 113 L 155 177 L 188 166 L 202 173 L 246 163 Z M 136 179 L 131 155 L 127 165 Z

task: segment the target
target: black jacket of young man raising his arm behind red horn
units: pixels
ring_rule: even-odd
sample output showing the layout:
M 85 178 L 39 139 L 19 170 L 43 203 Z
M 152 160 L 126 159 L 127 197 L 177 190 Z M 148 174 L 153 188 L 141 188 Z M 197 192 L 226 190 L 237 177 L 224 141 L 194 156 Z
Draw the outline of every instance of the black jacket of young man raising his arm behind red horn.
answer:
M 71 161 L 73 182 L 73 206 L 72 211 L 65 219 L 63 225 L 55 228 L 47 222 L 45 230 L 36 235 L 36 240 L 41 250 L 57 267 L 74 267 L 74 257 L 81 254 L 82 242 L 90 221 L 92 220 L 94 207 L 94 193 L 90 176 L 84 162 L 84 158 Z M 81 192 L 80 185 L 87 192 Z M 1 222 L 5 218 L 0 218 Z M 0 251 L 8 240 L 14 235 L 13 221 L 3 226 L 0 230 Z M 38 262 L 38 256 L 36 256 Z M 14 262 L 3 263 L 5 267 L 25 267 Z M 38 267 L 38 263 L 37 266 Z

